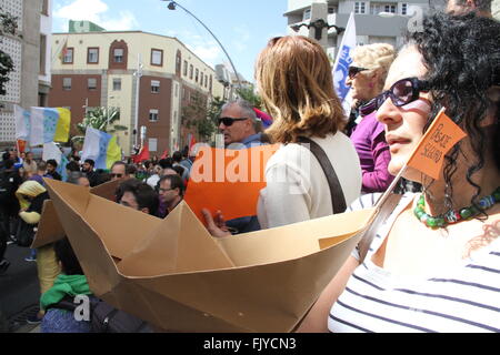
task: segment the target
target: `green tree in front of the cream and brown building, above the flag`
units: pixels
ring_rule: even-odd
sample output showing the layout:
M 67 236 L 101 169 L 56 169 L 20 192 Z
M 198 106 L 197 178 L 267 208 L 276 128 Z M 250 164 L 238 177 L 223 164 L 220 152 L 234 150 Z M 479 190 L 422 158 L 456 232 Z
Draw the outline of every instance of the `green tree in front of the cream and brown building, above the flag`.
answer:
M 81 135 L 73 136 L 73 141 L 83 141 L 87 128 L 92 128 L 107 133 L 127 131 L 127 126 L 113 124 L 120 121 L 120 110 L 117 108 L 94 108 L 89 110 L 81 123 L 77 123 L 77 130 Z

